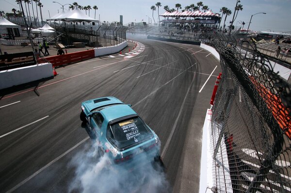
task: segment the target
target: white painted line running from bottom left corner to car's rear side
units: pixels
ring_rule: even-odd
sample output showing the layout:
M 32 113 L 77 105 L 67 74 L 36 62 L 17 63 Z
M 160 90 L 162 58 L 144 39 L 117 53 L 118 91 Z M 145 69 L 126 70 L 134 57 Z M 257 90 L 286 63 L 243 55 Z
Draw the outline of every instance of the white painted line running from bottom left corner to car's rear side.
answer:
M 30 179 L 32 179 L 33 177 L 35 177 L 36 175 L 38 175 L 39 173 L 41 173 L 43 170 L 45 170 L 46 168 L 48 168 L 51 164 L 55 163 L 56 161 L 58 161 L 59 159 L 61 159 L 62 157 L 64 157 L 66 154 L 68 154 L 69 152 L 71 152 L 72 150 L 74 150 L 75 148 L 77 148 L 78 146 L 80 146 L 82 143 L 84 143 L 89 138 L 90 138 L 89 136 L 86 137 L 85 139 L 83 139 L 82 141 L 80 141 L 78 144 L 76 144 L 75 146 L 73 146 L 72 148 L 70 148 L 69 150 L 67 150 L 65 153 L 63 153 L 62 155 L 60 155 L 59 157 L 57 157 L 56 159 L 54 159 L 50 163 L 46 164 L 44 167 L 42 167 L 39 170 L 37 170 L 30 177 L 26 178 L 25 180 L 23 180 L 22 182 L 20 182 L 16 186 L 14 186 L 12 189 L 10 189 L 9 191 L 7 191 L 6 193 L 12 193 L 17 188 L 19 188 L 20 186 L 22 186 L 23 184 L 25 184 L 26 182 L 28 182 Z

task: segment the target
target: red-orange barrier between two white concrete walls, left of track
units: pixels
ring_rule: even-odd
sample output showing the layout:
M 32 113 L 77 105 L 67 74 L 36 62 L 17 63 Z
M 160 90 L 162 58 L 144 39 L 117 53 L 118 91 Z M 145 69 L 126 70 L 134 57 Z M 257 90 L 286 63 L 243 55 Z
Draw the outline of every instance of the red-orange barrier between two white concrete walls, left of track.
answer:
M 95 58 L 95 51 L 94 49 L 91 50 L 85 50 L 80 52 L 74 52 L 64 55 L 57 55 L 57 56 L 50 56 L 46 58 L 40 58 L 37 59 L 38 63 L 46 63 L 50 62 L 52 63 L 52 66 L 60 66 L 63 64 L 68 64 L 72 62 L 78 62 L 84 59 L 92 59 Z

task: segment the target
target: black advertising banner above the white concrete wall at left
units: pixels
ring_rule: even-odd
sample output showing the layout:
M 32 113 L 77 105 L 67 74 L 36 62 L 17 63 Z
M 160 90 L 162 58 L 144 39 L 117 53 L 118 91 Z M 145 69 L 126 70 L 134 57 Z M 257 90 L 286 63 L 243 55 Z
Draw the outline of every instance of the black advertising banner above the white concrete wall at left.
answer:
M 0 71 L 36 64 L 33 52 L 0 55 Z

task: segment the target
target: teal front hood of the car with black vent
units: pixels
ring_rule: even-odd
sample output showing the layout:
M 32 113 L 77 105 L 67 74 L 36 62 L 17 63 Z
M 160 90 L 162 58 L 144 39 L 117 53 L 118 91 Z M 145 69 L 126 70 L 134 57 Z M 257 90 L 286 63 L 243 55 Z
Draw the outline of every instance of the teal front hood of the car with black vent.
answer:
M 116 99 L 115 97 L 102 97 L 102 98 L 84 101 L 82 104 L 86 105 L 89 111 L 92 111 L 101 106 L 105 106 L 109 104 L 123 104 L 123 103 L 119 99 Z

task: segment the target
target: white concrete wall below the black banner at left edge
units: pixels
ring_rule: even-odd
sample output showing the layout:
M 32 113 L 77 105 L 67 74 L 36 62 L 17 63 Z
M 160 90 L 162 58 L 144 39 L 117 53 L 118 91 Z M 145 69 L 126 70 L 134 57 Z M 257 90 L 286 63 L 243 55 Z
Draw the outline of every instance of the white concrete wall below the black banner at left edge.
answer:
M 40 80 L 53 76 L 51 63 L 15 68 L 0 72 L 0 89 Z

